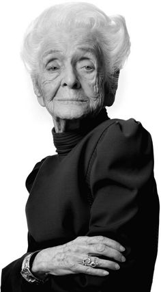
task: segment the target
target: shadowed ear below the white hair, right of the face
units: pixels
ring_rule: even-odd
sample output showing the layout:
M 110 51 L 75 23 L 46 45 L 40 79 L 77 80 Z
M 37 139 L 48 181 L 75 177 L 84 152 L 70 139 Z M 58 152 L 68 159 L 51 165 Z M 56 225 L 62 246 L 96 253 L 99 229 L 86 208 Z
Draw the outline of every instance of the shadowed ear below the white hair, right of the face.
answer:
M 118 87 L 119 70 L 117 70 L 111 78 L 111 83 L 104 84 L 104 105 L 111 107 L 115 101 L 115 94 Z

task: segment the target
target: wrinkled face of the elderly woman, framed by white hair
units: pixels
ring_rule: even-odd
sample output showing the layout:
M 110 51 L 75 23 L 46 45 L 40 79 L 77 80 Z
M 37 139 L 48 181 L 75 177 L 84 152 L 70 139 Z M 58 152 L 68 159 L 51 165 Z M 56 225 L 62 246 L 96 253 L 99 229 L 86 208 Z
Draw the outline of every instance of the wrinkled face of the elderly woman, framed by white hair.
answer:
M 104 72 L 100 54 L 87 29 L 46 36 L 34 87 L 38 101 L 53 118 L 84 118 L 102 108 Z

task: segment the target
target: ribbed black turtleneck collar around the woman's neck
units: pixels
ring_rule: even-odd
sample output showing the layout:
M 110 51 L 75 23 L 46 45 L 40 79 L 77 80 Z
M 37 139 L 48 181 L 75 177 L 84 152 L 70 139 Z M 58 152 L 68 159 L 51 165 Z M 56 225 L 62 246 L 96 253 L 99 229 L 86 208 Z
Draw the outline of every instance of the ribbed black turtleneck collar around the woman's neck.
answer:
M 85 134 L 89 133 L 89 131 L 97 127 L 98 124 L 101 124 L 108 119 L 106 108 L 104 107 L 95 118 L 85 118 L 81 124 L 81 128 L 78 130 L 56 133 L 55 128 L 53 128 L 53 140 L 58 155 L 61 157 L 68 155 L 68 152 L 76 146 Z

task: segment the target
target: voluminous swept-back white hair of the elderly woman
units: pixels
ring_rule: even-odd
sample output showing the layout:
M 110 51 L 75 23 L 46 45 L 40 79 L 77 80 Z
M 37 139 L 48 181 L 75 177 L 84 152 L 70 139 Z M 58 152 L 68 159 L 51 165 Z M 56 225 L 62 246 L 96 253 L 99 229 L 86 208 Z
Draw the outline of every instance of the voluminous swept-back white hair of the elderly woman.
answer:
M 25 34 L 21 56 L 27 70 L 34 75 L 38 66 L 38 53 L 50 29 L 87 27 L 96 38 L 105 69 L 105 78 L 115 76 L 130 53 L 130 38 L 126 21 L 121 15 L 106 16 L 95 5 L 72 2 L 54 5 L 42 12 L 29 25 Z

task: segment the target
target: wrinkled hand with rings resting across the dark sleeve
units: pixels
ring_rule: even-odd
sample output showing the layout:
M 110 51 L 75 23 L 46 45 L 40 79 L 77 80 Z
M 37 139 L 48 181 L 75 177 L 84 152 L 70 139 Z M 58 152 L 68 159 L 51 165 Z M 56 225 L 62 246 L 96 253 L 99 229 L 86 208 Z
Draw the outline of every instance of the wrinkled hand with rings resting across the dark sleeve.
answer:
M 108 237 L 76 237 L 63 245 L 38 252 L 31 270 L 37 277 L 44 274 L 61 276 L 78 273 L 106 276 L 109 273 L 105 269 L 119 269 L 119 265 L 115 261 L 126 261 L 126 258 L 121 254 L 124 250 L 125 248 L 120 243 Z M 88 256 L 92 261 L 98 263 L 96 267 L 83 265 L 83 259 Z M 107 256 L 111 258 L 111 261 L 99 258 L 99 256 Z

